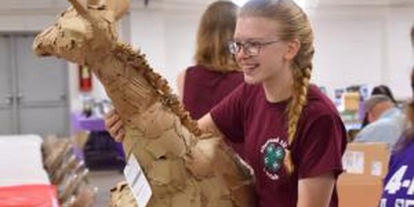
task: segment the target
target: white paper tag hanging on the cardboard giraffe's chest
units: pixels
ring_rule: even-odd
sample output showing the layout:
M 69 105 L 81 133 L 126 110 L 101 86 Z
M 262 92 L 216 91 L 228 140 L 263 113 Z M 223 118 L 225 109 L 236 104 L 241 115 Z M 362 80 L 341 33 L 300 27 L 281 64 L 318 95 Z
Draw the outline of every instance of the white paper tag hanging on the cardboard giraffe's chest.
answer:
M 145 207 L 150 201 L 152 190 L 134 155 L 131 155 L 128 159 L 124 175 L 138 206 Z

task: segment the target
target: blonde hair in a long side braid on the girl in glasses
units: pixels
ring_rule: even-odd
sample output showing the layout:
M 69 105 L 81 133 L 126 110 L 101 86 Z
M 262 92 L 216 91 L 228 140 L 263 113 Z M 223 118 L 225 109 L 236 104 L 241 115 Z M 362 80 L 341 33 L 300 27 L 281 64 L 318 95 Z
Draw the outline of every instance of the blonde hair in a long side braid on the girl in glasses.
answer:
M 279 23 L 280 39 L 300 43 L 299 51 L 293 59 L 293 97 L 287 108 L 288 146 L 291 146 L 297 135 L 297 125 L 302 110 L 306 106 L 309 81 L 313 68 L 312 59 L 315 53 L 313 46 L 313 30 L 306 13 L 292 0 L 250 0 L 241 9 L 239 17 L 264 17 Z M 287 150 L 285 166 L 289 174 L 294 170 L 290 150 Z

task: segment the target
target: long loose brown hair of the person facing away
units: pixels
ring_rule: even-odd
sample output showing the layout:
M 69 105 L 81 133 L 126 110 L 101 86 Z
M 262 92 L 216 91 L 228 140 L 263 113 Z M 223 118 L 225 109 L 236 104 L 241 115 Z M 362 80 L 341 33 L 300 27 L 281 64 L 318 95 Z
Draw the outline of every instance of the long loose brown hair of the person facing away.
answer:
M 227 43 L 233 39 L 238 7 L 231 1 L 215 1 L 201 17 L 195 61 L 221 72 L 239 70 Z

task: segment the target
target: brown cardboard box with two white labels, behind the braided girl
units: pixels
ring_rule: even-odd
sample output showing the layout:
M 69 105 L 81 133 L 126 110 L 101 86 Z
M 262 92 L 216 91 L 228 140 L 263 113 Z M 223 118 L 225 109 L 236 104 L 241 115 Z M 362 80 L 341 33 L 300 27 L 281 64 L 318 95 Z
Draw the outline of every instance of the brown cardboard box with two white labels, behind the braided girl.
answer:
M 388 168 L 388 150 L 383 143 L 348 144 L 337 190 L 340 207 L 378 206 L 382 181 Z

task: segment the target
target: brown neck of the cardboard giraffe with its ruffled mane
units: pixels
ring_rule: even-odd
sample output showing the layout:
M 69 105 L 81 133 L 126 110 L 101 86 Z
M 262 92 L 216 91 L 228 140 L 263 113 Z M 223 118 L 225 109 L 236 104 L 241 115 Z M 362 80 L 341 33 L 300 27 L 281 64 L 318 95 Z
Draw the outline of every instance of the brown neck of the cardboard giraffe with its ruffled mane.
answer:
M 124 43 L 117 43 L 108 57 L 90 65 L 103 83 L 121 118 L 128 122 L 133 114 L 145 112 L 161 101 L 181 119 L 181 123 L 195 135 L 201 135 L 197 122 L 190 118 L 178 97 L 172 94 L 166 79 L 150 68 L 145 55 Z

